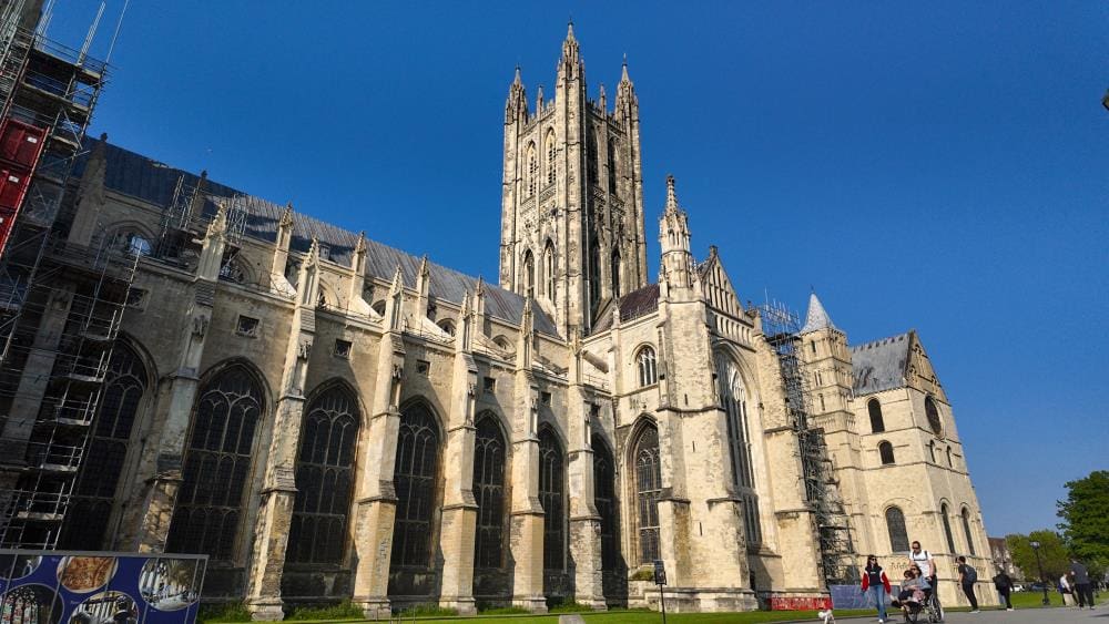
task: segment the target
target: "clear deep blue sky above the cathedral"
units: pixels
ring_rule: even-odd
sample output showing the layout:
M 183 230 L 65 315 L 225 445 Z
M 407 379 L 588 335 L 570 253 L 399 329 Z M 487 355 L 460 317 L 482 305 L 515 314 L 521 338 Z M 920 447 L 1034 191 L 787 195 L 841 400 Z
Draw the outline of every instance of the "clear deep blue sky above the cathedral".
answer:
M 1109 3 L 767 4 L 134 0 L 92 132 L 495 278 L 512 69 L 549 95 L 572 14 L 594 96 L 628 54 L 649 239 L 673 173 L 742 298 L 916 328 L 990 534 L 1054 526 L 1109 468 Z

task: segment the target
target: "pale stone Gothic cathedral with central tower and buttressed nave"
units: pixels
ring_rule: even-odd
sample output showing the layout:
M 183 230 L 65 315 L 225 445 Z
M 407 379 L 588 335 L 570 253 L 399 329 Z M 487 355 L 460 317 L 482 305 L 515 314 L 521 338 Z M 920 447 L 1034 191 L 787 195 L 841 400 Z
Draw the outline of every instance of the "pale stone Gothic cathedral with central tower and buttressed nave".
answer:
M 90 142 L 55 229 L 143 258 L 60 546 L 207 553 L 257 618 L 653 605 L 655 560 L 681 611 L 826 595 L 759 310 L 673 178 L 644 205 L 627 65 L 591 99 L 571 28 L 557 71 L 509 88 L 499 284 Z M 919 338 L 851 345 L 814 295 L 802 341 L 855 551 L 924 542 L 956 604 L 955 555 L 991 572 Z

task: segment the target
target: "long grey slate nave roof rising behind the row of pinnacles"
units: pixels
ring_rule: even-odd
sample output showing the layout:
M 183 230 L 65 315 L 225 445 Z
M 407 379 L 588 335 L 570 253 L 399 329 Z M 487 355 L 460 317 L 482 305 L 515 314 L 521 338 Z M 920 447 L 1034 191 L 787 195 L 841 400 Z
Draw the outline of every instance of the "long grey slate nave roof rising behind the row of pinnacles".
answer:
M 91 150 L 94 143 L 96 141 L 89 140 L 85 147 Z M 80 176 L 84 172 L 88 153 L 87 151 L 85 155 L 74 163 L 73 175 Z M 190 172 L 171 167 L 111 143 L 105 145 L 104 155 L 108 162 L 104 184 L 108 188 L 159 206 L 170 205 L 173 201 L 174 188 L 182 176 L 184 184 L 190 187 L 195 187 L 200 182 L 200 177 Z M 205 182 L 204 190 L 208 195 L 204 206 L 205 216 L 215 214 L 215 198 L 232 197 L 236 194 L 245 195 L 246 236 L 268 243 L 274 243 L 277 239 L 277 223 L 285 209 L 284 206 L 211 180 Z M 294 213 L 293 239 L 289 247 L 294 252 L 307 252 L 313 237 L 328 247 L 328 258 L 332 262 L 350 266 L 354 247 L 358 241 L 356 233 L 303 213 Z M 366 243 L 366 275 L 390 280 L 399 266 L 405 286 L 409 288 L 416 286 L 420 258 L 376 241 L 367 239 Z M 472 293 L 477 288 L 477 278 L 469 275 L 431 262 L 428 263 L 428 269 L 431 277 L 430 296 L 436 299 L 460 305 L 462 295 L 466 291 Z M 486 283 L 485 291 L 487 314 L 512 324 L 520 323 L 520 316 L 523 311 L 522 296 L 489 283 Z M 531 309 L 535 311 L 536 331 L 558 336 L 554 324 L 539 306 L 533 305 Z

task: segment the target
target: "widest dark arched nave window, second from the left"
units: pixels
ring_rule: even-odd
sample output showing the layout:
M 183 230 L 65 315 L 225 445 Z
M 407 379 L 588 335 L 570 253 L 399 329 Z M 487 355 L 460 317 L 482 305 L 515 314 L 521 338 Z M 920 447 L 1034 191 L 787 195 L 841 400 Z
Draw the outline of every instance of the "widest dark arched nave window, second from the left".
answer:
M 167 552 L 233 559 L 262 415 L 262 385 L 242 365 L 227 367 L 201 387 Z

